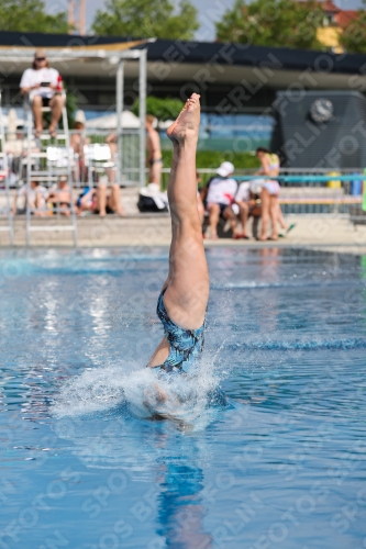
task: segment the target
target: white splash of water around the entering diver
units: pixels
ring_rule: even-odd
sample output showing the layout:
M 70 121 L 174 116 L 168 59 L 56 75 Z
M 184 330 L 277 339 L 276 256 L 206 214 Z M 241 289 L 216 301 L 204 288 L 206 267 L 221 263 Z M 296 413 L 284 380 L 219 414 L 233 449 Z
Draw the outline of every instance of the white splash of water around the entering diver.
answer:
M 80 416 L 126 405 L 138 418 L 167 418 L 195 429 L 210 423 L 210 410 L 226 405 L 212 362 L 187 374 L 165 374 L 121 363 L 85 370 L 70 379 L 52 406 L 56 417 Z

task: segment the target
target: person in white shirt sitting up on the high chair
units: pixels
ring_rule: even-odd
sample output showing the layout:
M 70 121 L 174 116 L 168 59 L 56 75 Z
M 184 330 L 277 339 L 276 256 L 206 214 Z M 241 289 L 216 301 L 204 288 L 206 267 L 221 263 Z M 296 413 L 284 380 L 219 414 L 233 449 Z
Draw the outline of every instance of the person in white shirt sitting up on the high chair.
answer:
M 25 93 L 30 96 L 36 137 L 41 135 L 43 130 L 42 107 L 51 107 L 52 119 L 48 131 L 52 137 L 56 136 L 56 125 L 64 104 L 59 87 L 58 70 L 49 67 L 46 53 L 43 49 L 36 51 L 32 68 L 24 70 L 20 82 L 22 96 Z

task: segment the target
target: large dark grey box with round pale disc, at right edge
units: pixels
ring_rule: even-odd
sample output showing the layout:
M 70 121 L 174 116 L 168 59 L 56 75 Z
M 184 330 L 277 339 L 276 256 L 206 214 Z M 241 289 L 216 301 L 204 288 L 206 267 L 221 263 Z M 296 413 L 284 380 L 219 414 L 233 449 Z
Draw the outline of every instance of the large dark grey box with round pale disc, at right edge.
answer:
M 271 150 L 289 168 L 364 168 L 366 98 L 357 91 L 277 92 Z

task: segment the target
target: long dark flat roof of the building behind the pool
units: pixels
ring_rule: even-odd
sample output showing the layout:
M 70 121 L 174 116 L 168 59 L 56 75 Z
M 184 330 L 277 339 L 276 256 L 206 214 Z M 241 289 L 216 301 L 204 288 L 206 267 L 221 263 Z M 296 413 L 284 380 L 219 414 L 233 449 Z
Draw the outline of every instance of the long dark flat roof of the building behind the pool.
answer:
M 67 48 L 70 46 L 111 49 L 126 45 L 132 38 L 125 36 L 77 36 L 69 34 L 41 34 L 41 33 L 15 33 L 0 32 L 0 65 L 2 79 L 7 76 L 21 75 L 30 66 L 27 58 L 19 59 L 14 66 L 12 58 L 13 48 L 26 48 L 34 52 L 37 47 L 59 48 L 60 57 L 67 57 Z M 135 42 L 138 44 L 138 40 Z M 275 88 L 287 87 L 299 77 L 303 86 L 324 88 L 348 88 L 350 77 L 362 80 L 364 85 L 365 75 L 362 67 L 365 56 L 359 54 L 336 55 L 329 52 L 315 52 L 307 49 L 291 49 L 286 47 L 265 47 L 240 44 L 222 44 L 211 42 L 178 42 L 173 40 L 156 40 L 155 42 L 143 42 L 133 46 L 147 48 L 147 74 L 151 81 L 179 81 L 192 85 L 206 86 L 210 82 L 222 85 L 243 85 L 243 82 L 264 82 L 262 86 Z M 74 49 L 75 51 L 75 49 Z M 59 60 L 53 65 L 58 68 L 63 76 L 96 77 L 104 74 L 112 77 L 115 65 L 108 65 L 102 58 L 78 61 L 74 59 L 67 64 Z M 101 64 L 102 71 L 100 70 Z M 302 72 L 311 71 L 311 79 L 302 76 Z M 258 76 L 260 72 L 260 78 Z M 126 78 L 135 78 L 138 75 L 137 64 L 126 64 Z M 264 80 L 265 79 L 265 80 Z M 356 87 L 357 82 L 353 85 Z M 356 89 L 356 88 L 355 88 Z

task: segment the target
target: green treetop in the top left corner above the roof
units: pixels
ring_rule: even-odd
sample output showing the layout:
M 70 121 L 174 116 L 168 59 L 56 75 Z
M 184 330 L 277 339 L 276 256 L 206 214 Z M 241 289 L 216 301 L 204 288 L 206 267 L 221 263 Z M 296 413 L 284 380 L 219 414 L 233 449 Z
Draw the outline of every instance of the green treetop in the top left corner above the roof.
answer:
M 67 14 L 45 12 L 43 0 L 1 0 L 0 31 L 67 33 Z

